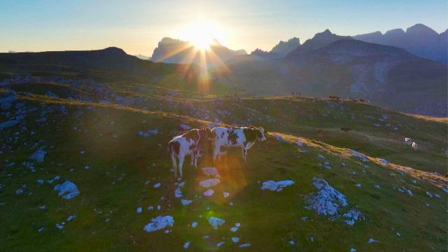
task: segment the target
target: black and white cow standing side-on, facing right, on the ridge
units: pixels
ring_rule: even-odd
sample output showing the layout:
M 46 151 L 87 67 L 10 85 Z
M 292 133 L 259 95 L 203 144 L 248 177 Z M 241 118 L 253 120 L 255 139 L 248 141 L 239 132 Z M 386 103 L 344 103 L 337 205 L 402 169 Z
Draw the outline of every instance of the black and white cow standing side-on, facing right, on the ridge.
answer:
M 213 160 L 221 155 L 221 146 L 241 147 L 243 159 L 246 161 L 247 150 L 255 144 L 255 141 L 265 141 L 265 130 L 262 127 L 226 128 L 214 127 L 211 130 L 214 141 Z

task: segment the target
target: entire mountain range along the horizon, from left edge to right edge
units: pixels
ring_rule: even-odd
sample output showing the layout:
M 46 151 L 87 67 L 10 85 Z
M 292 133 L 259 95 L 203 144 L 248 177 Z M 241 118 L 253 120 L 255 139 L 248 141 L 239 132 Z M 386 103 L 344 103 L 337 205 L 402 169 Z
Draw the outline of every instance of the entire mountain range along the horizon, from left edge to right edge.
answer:
M 417 41 L 416 34 L 419 34 L 420 45 L 431 46 L 436 43 L 429 43 L 429 38 L 446 36 L 446 32 L 435 36 L 426 28 L 409 27 L 404 36 L 412 35 Z M 427 32 L 433 35 L 423 36 Z M 380 37 L 387 38 L 394 33 L 402 34 L 388 31 L 387 36 Z M 367 40 L 375 36 L 355 38 Z M 269 52 L 255 50 L 250 55 L 244 50 L 231 50 L 218 41 L 202 51 L 189 42 L 163 38 L 153 52 L 152 61 L 127 55 L 120 48 L 0 53 L 0 77 L 10 73 L 64 74 L 157 85 L 162 85 L 160 80 L 164 80 L 164 85 L 172 88 L 195 90 L 200 68 L 207 67 L 209 92 L 337 95 L 366 99 L 374 105 L 407 113 L 448 116 L 446 64 L 420 57 L 401 46 L 355 38 L 332 34 L 327 29 L 303 44 L 299 38 L 292 38 L 281 41 Z M 418 48 L 418 43 L 411 44 Z

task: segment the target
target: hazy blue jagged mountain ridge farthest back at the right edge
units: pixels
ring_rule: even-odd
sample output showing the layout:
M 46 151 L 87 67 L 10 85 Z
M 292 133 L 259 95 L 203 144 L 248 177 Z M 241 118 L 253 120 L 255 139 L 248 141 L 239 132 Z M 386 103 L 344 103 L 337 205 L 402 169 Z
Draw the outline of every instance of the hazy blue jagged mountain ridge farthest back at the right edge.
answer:
M 445 64 L 448 62 L 447 31 L 437 34 L 426 25 L 416 24 L 407 28 L 406 31 L 392 29 L 385 34 L 375 31 L 370 34 L 356 35 L 353 38 L 369 43 L 397 46 L 419 57 Z

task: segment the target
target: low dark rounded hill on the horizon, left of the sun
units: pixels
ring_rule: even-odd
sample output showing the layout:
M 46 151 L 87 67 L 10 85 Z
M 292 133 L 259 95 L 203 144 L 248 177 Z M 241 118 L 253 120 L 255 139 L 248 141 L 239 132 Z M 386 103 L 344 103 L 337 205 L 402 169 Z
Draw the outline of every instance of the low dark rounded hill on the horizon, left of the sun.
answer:
M 86 76 L 127 76 L 154 78 L 196 71 L 188 65 L 172 65 L 142 60 L 120 48 L 103 50 L 0 53 L 0 72 L 76 73 Z

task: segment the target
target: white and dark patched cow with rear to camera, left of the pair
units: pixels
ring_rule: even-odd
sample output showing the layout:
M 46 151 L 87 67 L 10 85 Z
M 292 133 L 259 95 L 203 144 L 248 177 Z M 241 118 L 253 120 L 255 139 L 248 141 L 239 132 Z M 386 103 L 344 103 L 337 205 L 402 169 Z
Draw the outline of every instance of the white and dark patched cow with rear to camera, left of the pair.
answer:
M 174 137 L 172 141 L 169 141 L 169 152 L 173 161 L 174 176 L 177 178 L 177 158 L 179 158 L 179 174 L 182 177 L 183 161 L 187 155 L 191 156 L 191 165 L 197 167 L 197 157 L 200 155 L 200 143 L 201 141 L 207 141 L 211 135 L 209 127 L 202 128 L 201 130 L 193 129 L 185 134 Z

